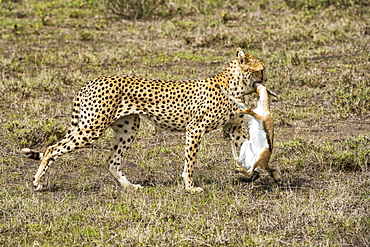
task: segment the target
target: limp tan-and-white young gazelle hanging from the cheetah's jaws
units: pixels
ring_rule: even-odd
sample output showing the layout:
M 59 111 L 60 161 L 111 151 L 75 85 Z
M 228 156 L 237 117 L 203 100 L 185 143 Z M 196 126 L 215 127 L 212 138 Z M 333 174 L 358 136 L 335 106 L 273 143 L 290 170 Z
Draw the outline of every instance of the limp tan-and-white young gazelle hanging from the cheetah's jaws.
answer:
M 256 82 L 253 89 L 248 93 L 257 92 L 259 100 L 255 109 L 247 108 L 243 103 L 228 94 L 221 86 L 218 87 L 227 97 L 239 105 L 242 113 L 248 116 L 250 139 L 246 140 L 241 149 L 239 157 L 233 147 L 234 158 L 242 164 L 237 170 L 241 172 L 247 181 L 254 181 L 259 177 L 259 170 L 267 171 L 272 178 L 280 180 L 280 174 L 276 169 L 269 166 L 274 141 L 274 121 L 270 111 L 268 94 L 276 94 L 267 89 L 262 83 Z

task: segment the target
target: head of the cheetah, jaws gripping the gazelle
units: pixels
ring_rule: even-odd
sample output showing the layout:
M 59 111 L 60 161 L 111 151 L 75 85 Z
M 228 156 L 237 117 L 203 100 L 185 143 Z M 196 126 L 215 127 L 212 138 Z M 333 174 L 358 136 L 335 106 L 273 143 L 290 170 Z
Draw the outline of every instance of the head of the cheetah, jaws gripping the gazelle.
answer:
M 250 88 L 246 94 L 256 92 L 257 84 L 265 84 L 267 78 L 264 74 L 264 64 L 253 55 L 245 53 L 241 48 L 236 49 L 236 62 L 243 75 L 243 83 Z M 270 89 L 267 89 L 270 95 L 277 95 Z

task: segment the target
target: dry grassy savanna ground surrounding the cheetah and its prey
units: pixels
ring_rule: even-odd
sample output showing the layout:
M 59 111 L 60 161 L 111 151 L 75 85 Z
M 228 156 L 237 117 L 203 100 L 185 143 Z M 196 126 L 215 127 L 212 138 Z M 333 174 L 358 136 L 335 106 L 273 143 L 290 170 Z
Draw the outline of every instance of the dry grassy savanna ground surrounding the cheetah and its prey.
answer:
M 370 245 L 368 1 L 153 0 L 125 12 L 97 0 L 0 3 L 0 245 Z M 205 191 L 188 195 L 184 134 L 143 121 L 125 167 L 144 189 L 110 176 L 107 131 L 58 159 L 33 191 L 39 162 L 20 150 L 63 137 L 86 81 L 206 77 L 237 47 L 265 62 L 280 96 L 271 162 L 281 185 L 242 182 L 216 130 L 198 155 Z

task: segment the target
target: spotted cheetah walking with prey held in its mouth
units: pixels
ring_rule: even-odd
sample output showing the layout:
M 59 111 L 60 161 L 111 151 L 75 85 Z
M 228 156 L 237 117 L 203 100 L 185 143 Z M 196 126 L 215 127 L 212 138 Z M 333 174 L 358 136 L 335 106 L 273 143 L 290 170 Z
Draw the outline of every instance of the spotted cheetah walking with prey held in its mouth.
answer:
M 27 157 L 41 159 L 34 188 L 43 188 L 42 178 L 59 156 L 92 144 L 108 127 L 114 133 L 108 161 L 110 173 L 122 186 L 140 188 L 126 178 L 122 161 L 139 130 L 140 117 L 144 116 L 162 129 L 186 133 L 182 172 L 185 190 L 191 194 L 201 192 L 203 189 L 194 185 L 193 177 L 202 136 L 222 127 L 224 136 L 238 150 L 246 139 L 243 114 L 234 113 L 237 105 L 215 85 L 243 101 L 253 83 L 265 80 L 264 64 L 241 48 L 236 49 L 236 56 L 223 72 L 204 79 L 170 81 L 110 76 L 91 80 L 75 97 L 64 139 L 48 147 L 45 153 L 23 149 Z

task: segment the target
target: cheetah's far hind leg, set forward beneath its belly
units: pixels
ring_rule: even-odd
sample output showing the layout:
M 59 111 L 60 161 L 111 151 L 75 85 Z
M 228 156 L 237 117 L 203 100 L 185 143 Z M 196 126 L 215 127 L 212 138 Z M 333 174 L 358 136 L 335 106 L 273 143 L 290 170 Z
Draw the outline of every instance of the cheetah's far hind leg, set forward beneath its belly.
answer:
M 111 128 L 114 131 L 113 150 L 109 158 L 109 172 L 125 188 L 141 188 L 139 184 L 132 184 L 122 172 L 123 155 L 130 148 L 132 141 L 140 127 L 138 115 L 128 115 L 116 120 Z

